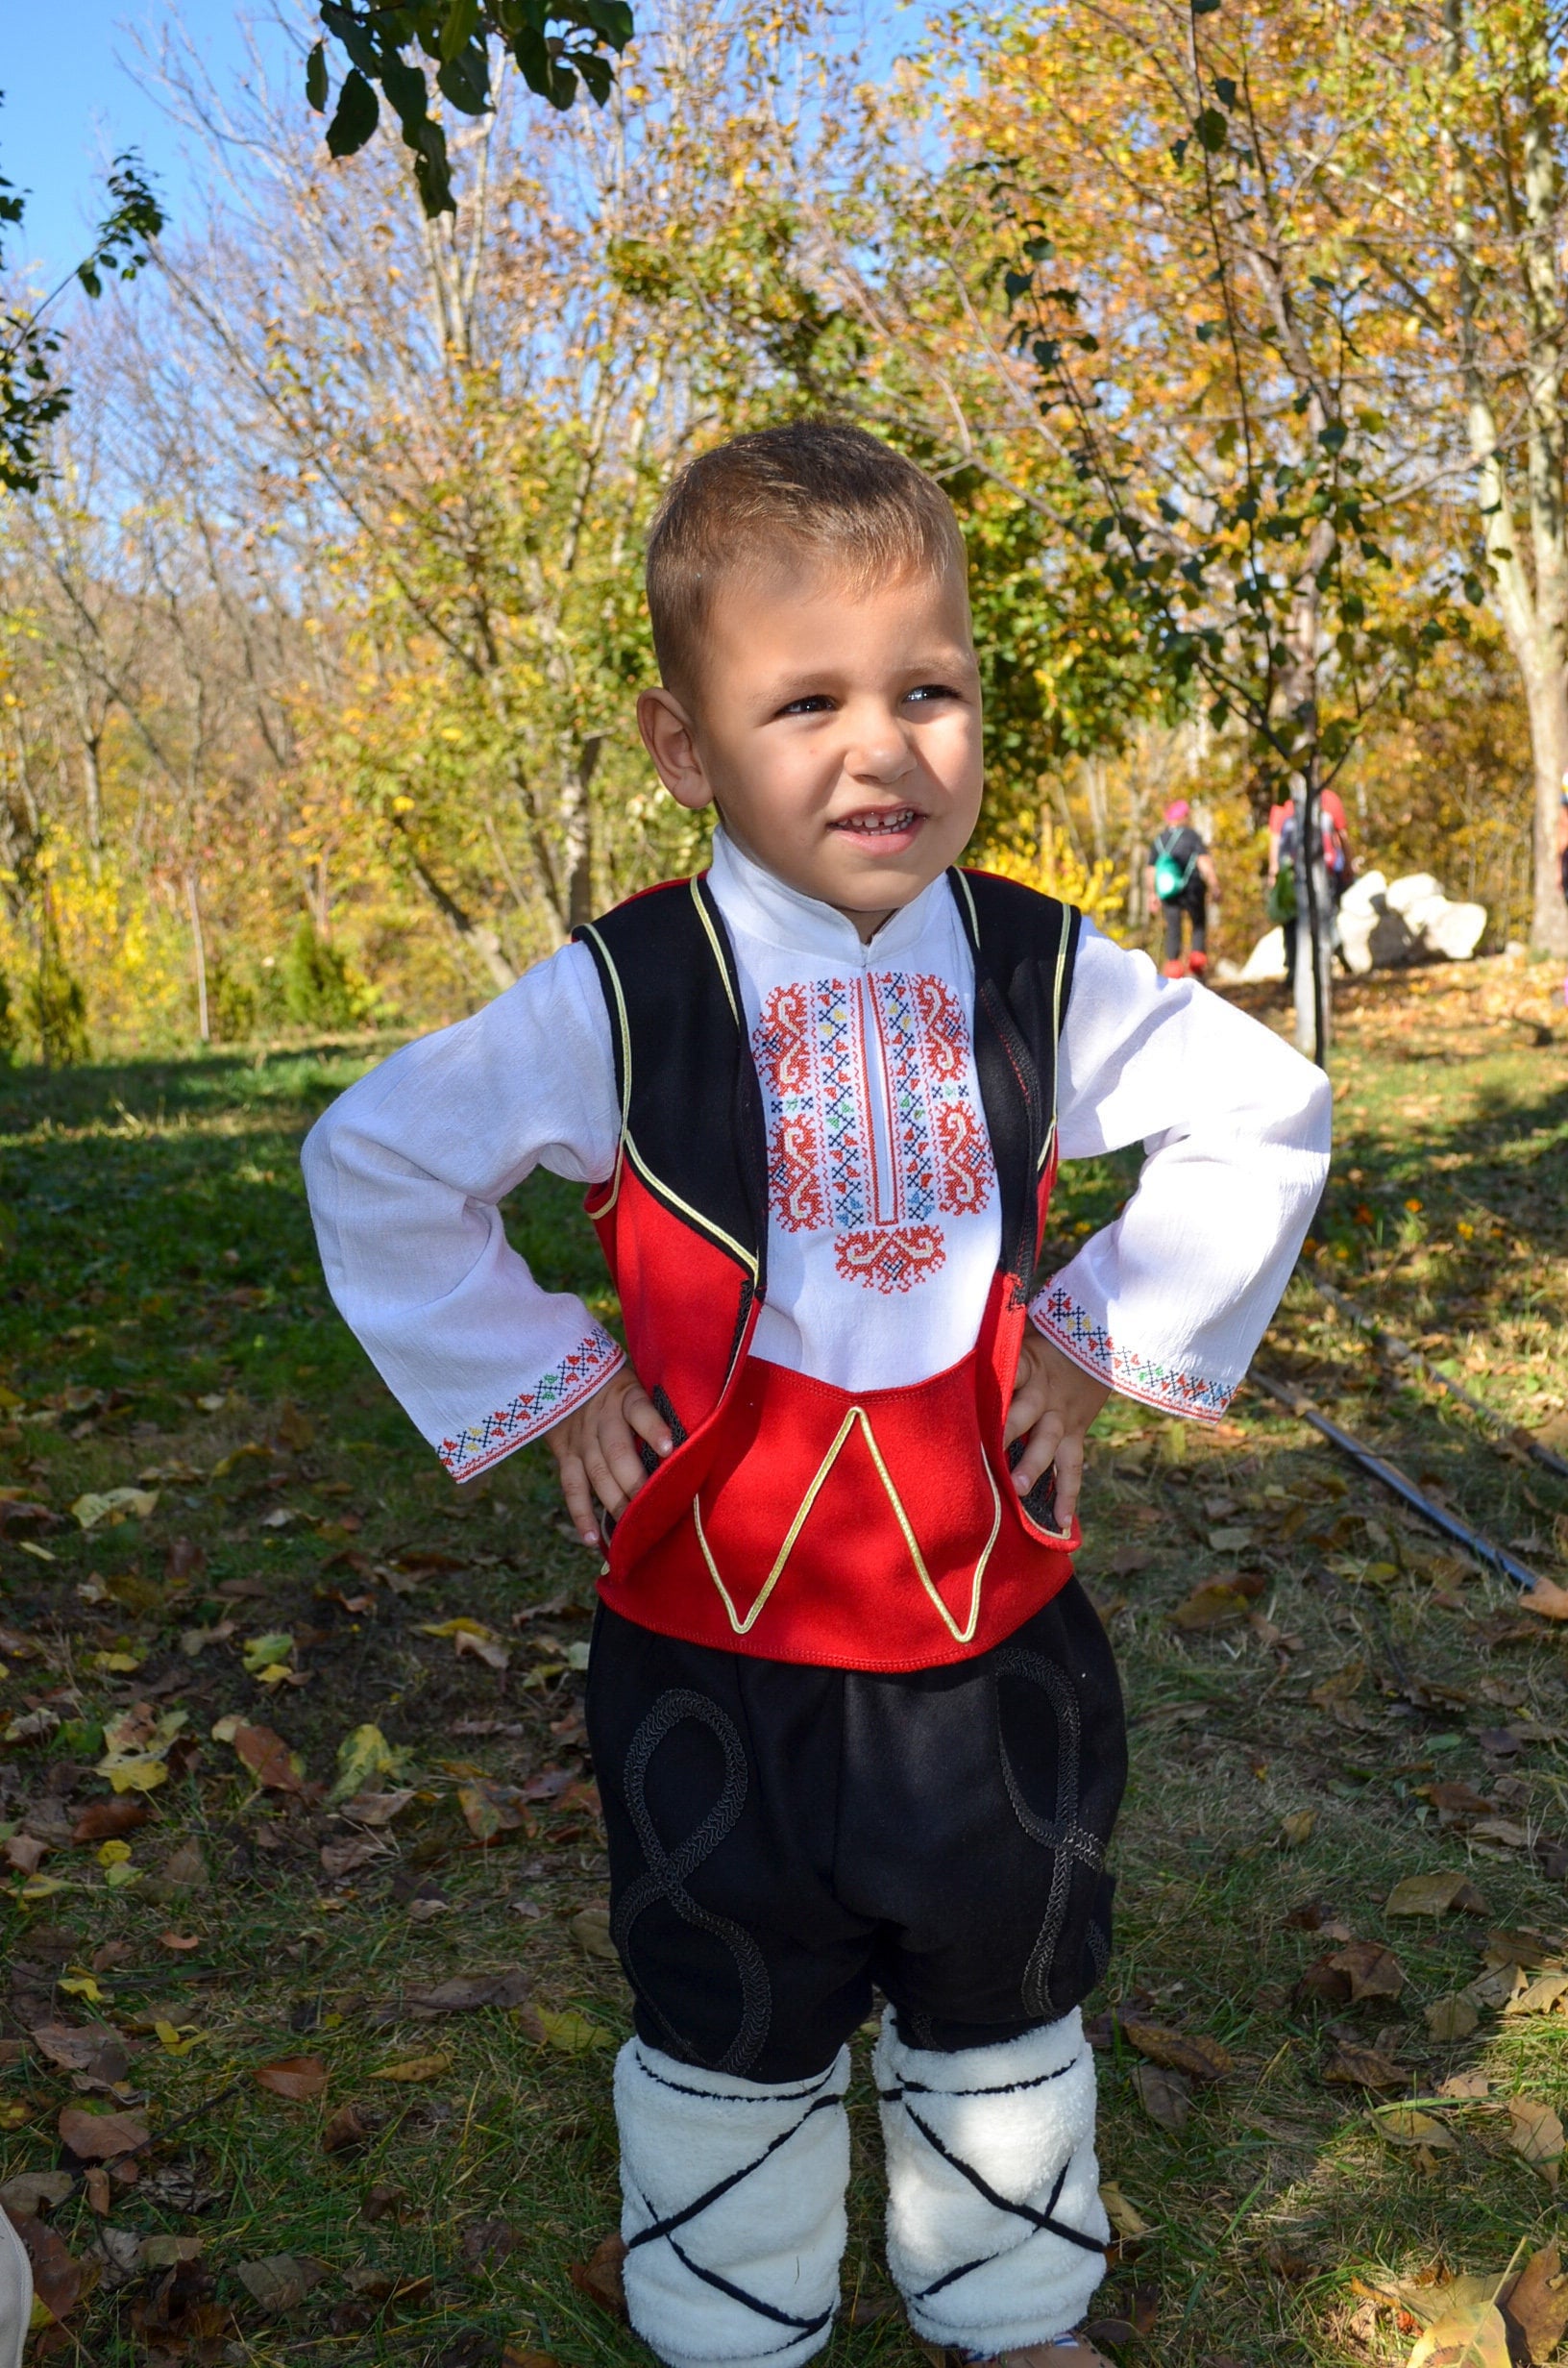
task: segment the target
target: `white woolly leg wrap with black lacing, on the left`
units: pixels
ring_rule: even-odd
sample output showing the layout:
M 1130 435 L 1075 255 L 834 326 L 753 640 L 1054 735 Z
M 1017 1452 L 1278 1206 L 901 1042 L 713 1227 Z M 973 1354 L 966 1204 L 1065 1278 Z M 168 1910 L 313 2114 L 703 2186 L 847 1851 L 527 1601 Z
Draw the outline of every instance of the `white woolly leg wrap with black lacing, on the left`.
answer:
M 732 2079 L 642 2039 L 616 2058 L 625 2306 L 670 2368 L 796 2368 L 824 2347 L 848 2233 L 850 2051 Z

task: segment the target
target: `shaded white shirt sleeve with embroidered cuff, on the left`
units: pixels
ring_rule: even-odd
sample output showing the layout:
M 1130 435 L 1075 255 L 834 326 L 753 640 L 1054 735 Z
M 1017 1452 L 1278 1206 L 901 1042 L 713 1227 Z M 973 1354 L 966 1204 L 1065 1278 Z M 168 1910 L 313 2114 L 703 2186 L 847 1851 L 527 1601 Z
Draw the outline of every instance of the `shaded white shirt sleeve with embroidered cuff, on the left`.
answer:
M 540 1291 L 497 1210 L 531 1167 L 609 1177 L 618 1132 L 604 997 L 568 945 L 360 1077 L 306 1139 L 332 1298 L 455 1480 L 623 1364 L 583 1300 Z

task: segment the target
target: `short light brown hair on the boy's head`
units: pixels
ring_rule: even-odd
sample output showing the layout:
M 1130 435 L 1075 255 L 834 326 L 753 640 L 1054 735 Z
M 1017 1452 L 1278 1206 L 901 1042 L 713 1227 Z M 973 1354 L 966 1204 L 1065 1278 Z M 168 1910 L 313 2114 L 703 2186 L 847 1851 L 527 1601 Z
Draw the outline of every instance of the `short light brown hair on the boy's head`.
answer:
M 801 419 L 734 436 L 687 462 L 649 533 L 649 616 L 668 689 L 687 694 L 701 675 L 720 580 L 777 559 L 843 568 L 853 590 L 966 568 L 943 488 L 865 429 Z

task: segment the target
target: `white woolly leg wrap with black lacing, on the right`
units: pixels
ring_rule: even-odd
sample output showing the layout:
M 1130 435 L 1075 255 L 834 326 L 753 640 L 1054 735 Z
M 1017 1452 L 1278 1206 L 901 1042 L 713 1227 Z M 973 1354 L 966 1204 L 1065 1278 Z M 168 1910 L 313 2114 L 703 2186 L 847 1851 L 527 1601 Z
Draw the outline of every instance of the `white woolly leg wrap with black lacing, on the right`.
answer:
M 1023 2039 L 872 2058 L 888 2148 L 888 2266 L 917 2335 L 983 2356 L 1066 2335 L 1106 2273 L 1094 2055 L 1078 2010 Z

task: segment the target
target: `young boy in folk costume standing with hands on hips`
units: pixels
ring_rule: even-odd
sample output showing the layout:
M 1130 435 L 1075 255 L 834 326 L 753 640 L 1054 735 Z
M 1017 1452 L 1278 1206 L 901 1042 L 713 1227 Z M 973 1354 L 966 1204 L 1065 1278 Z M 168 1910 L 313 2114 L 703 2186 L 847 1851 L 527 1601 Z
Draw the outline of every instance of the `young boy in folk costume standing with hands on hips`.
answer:
M 1125 1733 L 1073 1579 L 1111 1388 L 1215 1421 L 1317 1201 L 1324 1080 L 1075 912 L 952 869 L 981 691 L 945 495 L 872 436 L 692 462 L 642 739 L 713 864 L 621 905 L 306 1144 L 336 1305 L 457 1480 L 545 1437 L 604 1549 L 587 1722 L 637 2036 L 625 2295 L 670 2368 L 829 2340 L 848 2039 L 888 2264 L 955 2359 L 1085 2363 L 1080 1999 Z M 1059 1158 L 1144 1141 L 1033 1293 Z M 628 1350 L 507 1246 L 590 1186 Z

